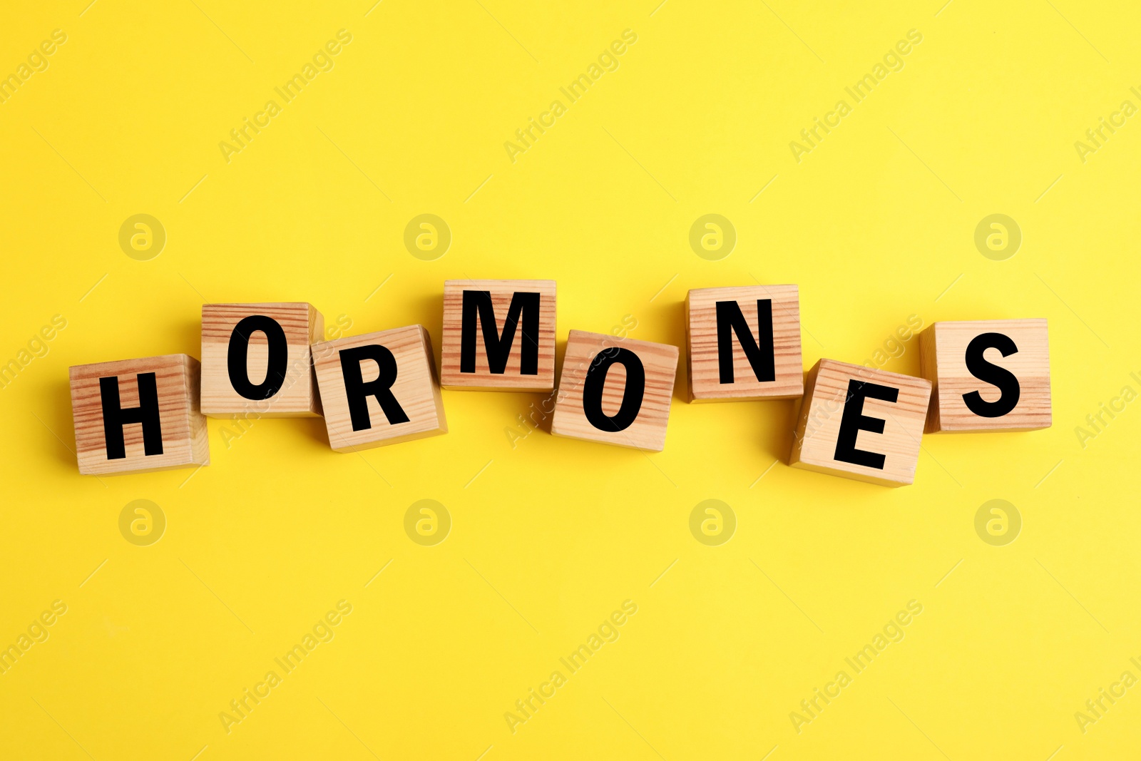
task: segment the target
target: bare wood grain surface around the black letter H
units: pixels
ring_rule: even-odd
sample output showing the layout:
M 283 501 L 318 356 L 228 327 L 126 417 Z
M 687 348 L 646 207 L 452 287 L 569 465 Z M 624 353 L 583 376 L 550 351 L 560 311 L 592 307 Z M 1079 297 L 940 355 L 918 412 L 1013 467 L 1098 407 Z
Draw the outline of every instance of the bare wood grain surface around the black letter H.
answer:
M 145 454 L 143 426 L 128 423 L 123 426 L 127 456 L 108 460 L 99 379 L 119 379 L 119 404 L 128 410 L 139 406 L 139 373 L 155 374 L 162 454 Z M 207 420 L 199 410 L 200 373 L 199 361 L 185 354 L 71 367 L 68 375 L 79 471 L 103 476 L 210 464 Z

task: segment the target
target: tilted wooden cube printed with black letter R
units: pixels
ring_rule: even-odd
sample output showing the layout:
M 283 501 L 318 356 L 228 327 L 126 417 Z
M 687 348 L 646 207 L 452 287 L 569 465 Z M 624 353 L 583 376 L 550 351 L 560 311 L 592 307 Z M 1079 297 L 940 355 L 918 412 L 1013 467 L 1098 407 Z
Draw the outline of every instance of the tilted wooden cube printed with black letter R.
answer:
M 431 340 L 421 325 L 315 343 L 313 364 L 335 451 L 447 432 Z

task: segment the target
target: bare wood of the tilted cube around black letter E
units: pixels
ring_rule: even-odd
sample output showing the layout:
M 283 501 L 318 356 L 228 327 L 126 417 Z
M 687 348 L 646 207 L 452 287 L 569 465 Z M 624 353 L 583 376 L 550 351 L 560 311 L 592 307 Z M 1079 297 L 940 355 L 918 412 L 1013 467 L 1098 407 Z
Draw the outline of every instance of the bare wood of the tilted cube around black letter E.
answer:
M 856 448 L 884 455 L 883 469 L 835 459 L 850 380 L 877 383 L 899 391 L 895 403 L 864 399 L 861 414 L 883 420 L 883 432 L 860 430 L 856 436 Z M 808 373 L 788 464 L 882 486 L 911 484 L 915 480 L 930 397 L 931 383 L 923 378 L 820 359 Z

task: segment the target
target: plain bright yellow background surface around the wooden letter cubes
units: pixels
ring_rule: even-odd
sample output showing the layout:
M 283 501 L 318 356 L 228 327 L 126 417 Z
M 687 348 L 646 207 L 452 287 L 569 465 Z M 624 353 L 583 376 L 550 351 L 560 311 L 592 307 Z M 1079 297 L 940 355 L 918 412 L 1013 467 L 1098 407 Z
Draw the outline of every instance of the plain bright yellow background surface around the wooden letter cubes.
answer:
M 1141 124 L 1084 163 L 1074 143 L 1141 105 L 1136 8 L 656 2 L 8 3 L 0 73 L 67 41 L 0 104 L 0 361 L 67 326 L 0 391 L 0 640 L 68 612 L 0 677 L 0 758 L 1135 751 L 1141 687 L 1084 734 L 1074 713 L 1141 677 L 1141 412 L 1085 447 L 1075 428 L 1141 390 Z M 227 163 L 219 141 L 340 29 L 333 70 Z M 626 29 L 617 71 L 512 163 L 503 143 Z M 912 29 L 903 71 L 798 163 L 788 143 Z M 118 243 L 140 212 L 168 235 L 149 261 Z M 424 212 L 453 234 L 435 261 L 403 244 Z M 720 261 L 688 244 L 711 212 L 738 236 Z M 1005 261 L 973 243 L 996 212 L 1023 234 Z M 683 346 L 687 289 L 756 281 L 800 285 L 806 367 L 875 362 L 913 314 L 1047 317 L 1054 426 L 925 437 L 889 489 L 768 470 L 796 403 L 689 405 L 679 374 L 661 454 L 543 430 L 512 447 L 541 395 L 445 391 L 446 436 L 359 456 L 317 419 L 228 446 L 211 420 L 189 480 L 79 476 L 70 365 L 199 356 L 204 301 L 307 300 L 349 334 L 422 323 L 438 353 L 455 277 L 557 280 L 560 357 L 569 329 L 628 315 Z M 883 366 L 917 374 L 905 346 Z M 136 499 L 167 516 L 151 547 L 119 533 Z M 403 529 L 421 499 L 452 516 L 436 547 Z M 689 533 L 706 499 L 737 516 L 721 547 Z M 1022 516 L 1006 547 L 974 532 L 992 499 Z M 219 712 L 341 599 L 335 639 L 227 734 Z M 512 734 L 504 712 L 626 599 L 621 638 Z M 798 734 L 790 712 L 912 599 L 906 638 Z

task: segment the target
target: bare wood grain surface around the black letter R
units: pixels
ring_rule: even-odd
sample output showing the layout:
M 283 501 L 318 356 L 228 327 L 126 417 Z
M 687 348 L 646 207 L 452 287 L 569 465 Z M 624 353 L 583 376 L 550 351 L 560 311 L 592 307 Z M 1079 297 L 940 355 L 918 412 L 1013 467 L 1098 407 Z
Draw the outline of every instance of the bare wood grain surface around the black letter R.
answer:
M 380 403 L 374 397 L 369 397 L 366 403 L 371 428 L 355 431 L 345 391 L 340 351 L 371 345 L 387 348 L 396 359 L 397 374 L 391 392 L 408 421 L 389 423 Z M 444 399 L 432 362 L 431 339 L 422 325 L 315 343 L 313 362 L 325 410 L 329 444 L 337 452 L 355 452 L 447 432 Z M 365 382 L 375 380 L 380 374 L 375 362 L 362 362 L 361 371 Z

